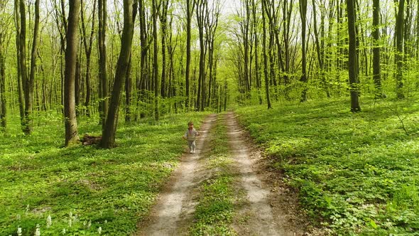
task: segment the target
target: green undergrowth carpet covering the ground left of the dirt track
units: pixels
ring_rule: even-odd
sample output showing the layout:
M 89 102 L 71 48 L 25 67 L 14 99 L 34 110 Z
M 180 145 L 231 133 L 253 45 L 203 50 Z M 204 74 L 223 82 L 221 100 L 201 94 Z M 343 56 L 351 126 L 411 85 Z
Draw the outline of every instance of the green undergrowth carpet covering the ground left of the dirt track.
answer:
M 60 114 L 40 114 L 33 134 L 18 117 L 0 133 L 0 235 L 129 235 L 148 215 L 185 149 L 181 137 L 203 113 L 119 124 L 115 149 L 62 148 Z M 100 134 L 97 119 L 79 119 L 80 134 Z M 50 227 L 47 218 L 50 215 Z M 49 223 L 48 223 L 49 225 Z M 99 230 L 100 227 L 100 230 Z

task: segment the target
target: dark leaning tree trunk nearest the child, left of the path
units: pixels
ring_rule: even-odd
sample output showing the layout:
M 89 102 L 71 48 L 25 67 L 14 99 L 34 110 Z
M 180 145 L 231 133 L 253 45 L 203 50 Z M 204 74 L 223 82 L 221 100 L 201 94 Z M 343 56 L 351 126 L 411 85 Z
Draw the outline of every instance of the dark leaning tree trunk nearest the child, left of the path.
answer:
M 134 8 L 134 11 L 136 11 L 136 7 Z M 133 12 L 133 0 L 124 0 L 124 30 L 121 37 L 121 52 L 119 53 L 118 63 L 116 64 L 114 87 L 109 102 L 106 125 L 102 132 L 101 146 L 105 149 L 115 147 L 119 99 L 121 98 L 121 89 L 124 84 L 124 75 L 126 75 L 129 67 L 135 15 L 135 12 Z

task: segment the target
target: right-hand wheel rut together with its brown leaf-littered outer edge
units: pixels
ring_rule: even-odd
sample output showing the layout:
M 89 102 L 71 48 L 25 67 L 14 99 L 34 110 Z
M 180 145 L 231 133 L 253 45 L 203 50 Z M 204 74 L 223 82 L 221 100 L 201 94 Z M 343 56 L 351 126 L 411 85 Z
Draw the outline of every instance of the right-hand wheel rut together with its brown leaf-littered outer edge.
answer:
M 277 173 L 268 171 L 261 151 L 239 126 L 235 114 L 229 112 L 225 121 L 236 169 L 241 174 L 239 184 L 247 198 L 234 230 L 239 235 L 318 235 L 308 230 L 310 224 L 298 210 L 296 193 L 289 191 Z

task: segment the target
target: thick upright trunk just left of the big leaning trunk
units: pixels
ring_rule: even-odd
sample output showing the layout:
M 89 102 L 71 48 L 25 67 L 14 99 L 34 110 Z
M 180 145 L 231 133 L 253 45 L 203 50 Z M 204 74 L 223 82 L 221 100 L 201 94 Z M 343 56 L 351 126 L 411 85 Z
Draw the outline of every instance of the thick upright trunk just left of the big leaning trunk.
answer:
M 79 27 L 80 0 L 70 0 L 69 6 L 64 80 L 65 146 L 77 144 L 80 140 L 75 107 L 75 73 L 79 45 L 77 31 Z

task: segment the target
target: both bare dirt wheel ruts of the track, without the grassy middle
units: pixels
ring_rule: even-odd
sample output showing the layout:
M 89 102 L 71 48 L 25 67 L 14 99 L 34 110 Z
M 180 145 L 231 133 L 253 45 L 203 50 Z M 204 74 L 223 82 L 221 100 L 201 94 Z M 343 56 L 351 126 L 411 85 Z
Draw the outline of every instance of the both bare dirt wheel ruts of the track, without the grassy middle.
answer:
M 241 220 L 233 223 L 234 230 L 238 235 L 304 235 L 305 226 L 298 223 L 300 220 L 296 218 L 299 216 L 292 209 L 295 207 L 293 196 L 283 193 L 283 188 L 271 181 L 272 176 L 261 163 L 260 151 L 251 144 L 235 114 L 229 112 L 223 118 L 232 165 L 239 174 L 235 184 L 244 190 L 246 198 L 246 203 L 236 209 L 235 218 Z M 201 136 L 197 139 L 197 153 L 183 154 L 180 165 L 151 210 L 150 218 L 138 225 L 139 232 L 135 235 L 188 234 L 187 225 L 193 220 L 200 183 L 208 177 L 202 171 L 208 151 L 205 142 L 216 121 L 216 114 L 205 119 L 200 127 Z

